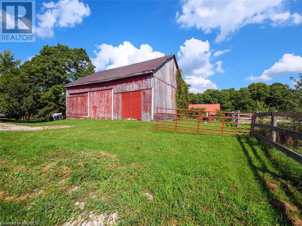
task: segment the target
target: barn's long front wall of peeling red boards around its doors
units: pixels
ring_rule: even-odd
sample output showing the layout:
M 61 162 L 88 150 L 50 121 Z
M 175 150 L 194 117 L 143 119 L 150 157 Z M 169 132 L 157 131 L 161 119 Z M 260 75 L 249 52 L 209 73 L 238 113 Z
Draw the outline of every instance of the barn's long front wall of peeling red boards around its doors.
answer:
M 151 108 L 152 105 L 152 77 L 151 73 L 143 74 L 140 76 L 128 77 L 118 80 L 112 80 L 108 82 L 102 83 L 92 83 L 86 85 L 79 85 L 79 86 L 70 86 L 66 87 L 66 95 L 67 95 L 67 118 L 87 118 L 88 117 L 88 110 L 85 114 L 77 114 L 76 112 L 71 112 L 70 110 L 75 110 L 76 103 L 75 100 L 70 101 L 72 96 L 79 95 L 79 94 L 70 94 L 75 92 L 83 92 L 88 90 L 94 89 L 105 89 L 105 88 L 112 88 L 113 89 L 113 118 L 114 119 L 121 119 L 121 93 L 136 91 L 136 90 L 143 90 L 142 91 L 142 120 L 143 121 L 150 121 L 151 120 L 151 110 L 146 110 L 147 108 Z M 146 90 L 146 91 L 145 91 Z M 87 96 L 87 93 L 82 93 L 81 95 Z M 147 96 L 151 95 L 151 96 Z M 145 101 L 146 100 L 146 101 Z M 151 101 L 150 101 L 151 100 Z M 85 105 L 86 102 L 88 104 L 88 99 L 81 100 L 79 105 Z M 88 107 L 87 107 L 88 109 Z

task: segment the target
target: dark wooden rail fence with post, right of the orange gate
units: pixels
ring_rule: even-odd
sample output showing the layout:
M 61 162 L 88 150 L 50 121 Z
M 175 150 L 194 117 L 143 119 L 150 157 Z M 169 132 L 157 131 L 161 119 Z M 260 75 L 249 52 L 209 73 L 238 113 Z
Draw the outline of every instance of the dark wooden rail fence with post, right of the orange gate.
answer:
M 265 117 L 270 116 L 271 117 L 271 125 L 265 125 L 265 124 L 259 124 L 257 123 L 257 117 Z M 295 161 L 302 164 L 302 155 L 299 155 L 298 153 L 292 151 L 291 149 L 288 149 L 278 143 L 276 143 L 276 132 L 284 134 L 289 137 L 293 137 L 295 139 L 302 140 L 302 133 L 294 131 L 294 130 L 288 130 L 284 128 L 277 127 L 277 117 L 284 117 L 284 118 L 302 118 L 302 112 L 281 112 L 281 111 L 271 111 L 271 112 L 261 112 L 261 113 L 254 113 L 254 118 L 252 121 L 252 129 L 251 129 L 251 135 L 254 137 L 259 138 L 260 140 L 265 141 L 269 145 L 275 147 L 276 149 L 280 150 L 284 154 L 288 155 Z M 269 139 L 266 137 L 263 137 L 262 135 L 255 133 L 255 127 L 259 127 L 262 129 L 270 130 L 270 137 Z

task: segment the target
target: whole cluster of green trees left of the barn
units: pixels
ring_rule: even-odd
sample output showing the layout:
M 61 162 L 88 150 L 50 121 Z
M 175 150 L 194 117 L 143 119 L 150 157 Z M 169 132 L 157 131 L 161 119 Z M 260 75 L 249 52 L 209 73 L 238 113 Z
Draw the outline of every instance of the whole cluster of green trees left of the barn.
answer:
M 38 55 L 21 64 L 10 50 L 0 53 L 0 108 L 9 117 L 48 120 L 65 115 L 65 84 L 95 72 L 83 48 L 43 46 Z

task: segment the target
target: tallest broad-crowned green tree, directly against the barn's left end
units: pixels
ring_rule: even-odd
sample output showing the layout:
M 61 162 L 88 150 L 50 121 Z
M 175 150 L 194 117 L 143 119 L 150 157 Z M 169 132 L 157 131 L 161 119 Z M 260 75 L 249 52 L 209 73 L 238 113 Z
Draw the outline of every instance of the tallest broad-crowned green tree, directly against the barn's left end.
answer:
M 30 75 L 41 91 L 36 118 L 48 119 L 55 112 L 65 115 L 65 84 L 95 72 L 83 48 L 71 49 L 58 43 L 43 46 L 40 54 L 26 61 L 21 69 Z

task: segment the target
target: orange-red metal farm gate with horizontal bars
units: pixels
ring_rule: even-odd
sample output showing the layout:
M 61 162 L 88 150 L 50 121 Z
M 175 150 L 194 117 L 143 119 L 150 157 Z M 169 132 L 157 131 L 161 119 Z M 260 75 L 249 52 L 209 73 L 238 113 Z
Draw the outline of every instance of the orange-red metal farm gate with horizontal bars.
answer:
M 157 108 L 155 130 L 240 135 L 251 132 L 253 117 L 253 113 Z

